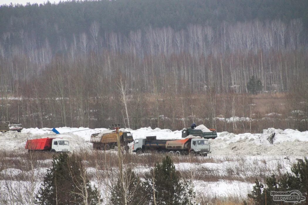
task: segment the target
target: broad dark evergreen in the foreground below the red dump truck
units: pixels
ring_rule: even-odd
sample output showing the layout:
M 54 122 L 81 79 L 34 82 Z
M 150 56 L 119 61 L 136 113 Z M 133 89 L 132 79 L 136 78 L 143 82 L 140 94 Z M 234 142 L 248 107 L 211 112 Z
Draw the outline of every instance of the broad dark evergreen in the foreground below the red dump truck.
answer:
M 47 171 L 35 197 L 36 204 L 97 204 L 96 190 L 83 173 L 80 157 L 74 154 L 69 157 L 67 153 L 54 155 L 52 168 Z

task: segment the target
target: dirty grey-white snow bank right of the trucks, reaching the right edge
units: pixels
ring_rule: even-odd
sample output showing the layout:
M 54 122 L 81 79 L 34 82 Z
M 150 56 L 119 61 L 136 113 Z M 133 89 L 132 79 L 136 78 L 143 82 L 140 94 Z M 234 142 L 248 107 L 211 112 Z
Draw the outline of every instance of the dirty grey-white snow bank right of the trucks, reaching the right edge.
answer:
M 275 135 L 273 135 L 275 133 Z M 272 139 L 272 140 L 271 140 Z M 272 141 L 272 143 L 271 143 Z M 308 132 L 268 128 L 262 134 L 218 133 L 211 141 L 213 155 L 300 155 L 308 153 Z

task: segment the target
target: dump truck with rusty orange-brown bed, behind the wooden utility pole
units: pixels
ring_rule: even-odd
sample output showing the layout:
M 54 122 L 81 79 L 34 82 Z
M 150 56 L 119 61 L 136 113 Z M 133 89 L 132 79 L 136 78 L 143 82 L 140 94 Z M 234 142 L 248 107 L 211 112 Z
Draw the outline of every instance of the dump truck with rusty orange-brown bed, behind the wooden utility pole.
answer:
M 128 149 L 128 144 L 133 142 L 131 132 L 119 132 L 121 146 Z M 114 149 L 117 145 L 117 133 L 112 131 L 109 133 L 95 133 L 91 135 L 90 142 L 93 143 L 93 149 L 109 150 Z

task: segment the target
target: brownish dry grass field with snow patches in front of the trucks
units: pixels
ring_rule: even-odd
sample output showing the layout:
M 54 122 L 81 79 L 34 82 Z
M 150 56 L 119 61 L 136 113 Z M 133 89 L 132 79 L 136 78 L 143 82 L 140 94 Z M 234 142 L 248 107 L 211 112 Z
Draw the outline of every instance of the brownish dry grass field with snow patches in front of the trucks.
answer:
M 33 175 L 31 169 L 50 168 L 52 154 L 49 152 L 27 153 L 23 150 L 0 153 L 0 180 L 24 181 L 29 175 Z M 115 151 L 83 150 L 76 152 L 83 156 L 86 167 L 96 170 L 97 173 L 89 175 L 90 180 L 100 180 L 110 182 L 116 181 L 118 170 L 118 158 Z M 124 152 L 124 168 L 131 166 L 137 168 L 140 177 L 153 168 L 156 163 L 161 162 L 164 154 L 148 153 L 136 155 Z M 172 156 L 176 168 L 180 171 L 183 179 L 192 179 L 202 184 L 216 183 L 219 181 L 238 181 L 252 184 L 258 178 L 263 181 L 264 175 L 275 173 L 281 175 L 292 164 L 292 160 L 284 160 L 282 157 L 249 157 L 249 156 Z M 295 159 L 294 159 L 295 160 Z M 21 170 L 21 174 L 4 173 L 3 170 L 9 168 Z M 193 173 L 193 176 L 192 176 Z M 36 183 L 43 180 L 43 176 L 36 177 Z M 0 187 L 1 188 L 1 187 Z M 206 189 L 206 185 L 204 187 Z M 247 190 L 246 190 L 247 191 Z M 200 204 L 243 204 L 247 200 L 246 195 L 234 195 L 228 197 L 217 196 L 211 190 L 201 191 L 198 195 Z

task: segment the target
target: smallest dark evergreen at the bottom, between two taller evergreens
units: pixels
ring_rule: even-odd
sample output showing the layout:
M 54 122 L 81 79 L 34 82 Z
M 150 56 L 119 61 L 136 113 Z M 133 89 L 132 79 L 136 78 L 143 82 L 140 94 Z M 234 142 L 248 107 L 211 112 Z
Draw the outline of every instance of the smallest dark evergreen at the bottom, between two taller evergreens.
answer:
M 111 204 L 125 205 L 124 193 L 126 192 L 127 205 L 138 205 L 145 203 L 143 187 L 140 178 L 135 175 L 132 169 L 124 174 L 124 187 L 120 177 L 111 192 Z

